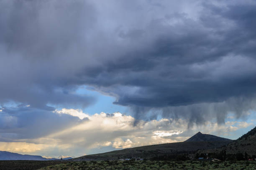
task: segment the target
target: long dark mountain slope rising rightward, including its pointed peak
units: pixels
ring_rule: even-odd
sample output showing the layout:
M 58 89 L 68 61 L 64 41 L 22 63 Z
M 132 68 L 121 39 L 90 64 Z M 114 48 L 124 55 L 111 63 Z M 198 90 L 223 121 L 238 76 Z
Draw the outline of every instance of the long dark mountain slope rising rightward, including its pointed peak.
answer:
M 182 153 L 192 154 L 197 152 L 197 150 L 207 150 L 222 147 L 232 141 L 233 140 L 198 132 L 193 137 L 189 138 L 189 140 L 184 142 L 133 147 L 111 152 L 85 155 L 82 157 L 74 158 L 72 160 L 110 160 L 126 159 L 130 157 L 150 158 L 161 155 L 177 155 Z

